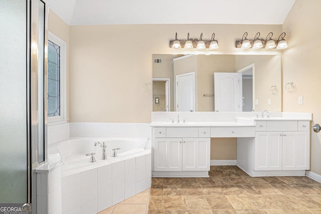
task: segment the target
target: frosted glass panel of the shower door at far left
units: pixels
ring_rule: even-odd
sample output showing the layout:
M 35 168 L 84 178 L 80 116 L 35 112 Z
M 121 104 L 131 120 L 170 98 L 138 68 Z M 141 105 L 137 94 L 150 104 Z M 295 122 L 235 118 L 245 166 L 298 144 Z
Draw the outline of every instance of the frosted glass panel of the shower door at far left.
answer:
M 0 5 L 0 203 L 26 203 L 27 0 L 0 0 Z

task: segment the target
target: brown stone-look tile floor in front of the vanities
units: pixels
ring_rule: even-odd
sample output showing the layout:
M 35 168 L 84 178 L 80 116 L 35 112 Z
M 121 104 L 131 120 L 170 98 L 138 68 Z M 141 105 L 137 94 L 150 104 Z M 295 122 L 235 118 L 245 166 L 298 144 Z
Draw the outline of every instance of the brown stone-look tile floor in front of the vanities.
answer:
M 237 166 L 211 166 L 209 175 L 153 177 L 148 213 L 321 213 L 321 183 L 308 177 L 251 177 Z

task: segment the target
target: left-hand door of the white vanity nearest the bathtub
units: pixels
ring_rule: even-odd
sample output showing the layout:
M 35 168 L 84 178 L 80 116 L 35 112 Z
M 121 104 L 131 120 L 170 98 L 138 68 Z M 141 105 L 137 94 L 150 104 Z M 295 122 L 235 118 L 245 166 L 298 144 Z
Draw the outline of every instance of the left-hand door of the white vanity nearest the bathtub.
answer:
M 182 138 L 154 138 L 154 170 L 182 171 Z

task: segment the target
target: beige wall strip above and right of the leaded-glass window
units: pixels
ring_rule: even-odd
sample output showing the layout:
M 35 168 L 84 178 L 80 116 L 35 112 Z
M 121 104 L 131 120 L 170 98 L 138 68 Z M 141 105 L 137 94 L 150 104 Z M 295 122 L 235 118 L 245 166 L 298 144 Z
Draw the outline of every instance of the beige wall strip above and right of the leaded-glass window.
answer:
M 48 30 L 66 42 L 67 59 L 66 59 L 66 101 L 67 101 L 67 118 L 69 118 L 69 25 L 59 16 L 49 9 Z

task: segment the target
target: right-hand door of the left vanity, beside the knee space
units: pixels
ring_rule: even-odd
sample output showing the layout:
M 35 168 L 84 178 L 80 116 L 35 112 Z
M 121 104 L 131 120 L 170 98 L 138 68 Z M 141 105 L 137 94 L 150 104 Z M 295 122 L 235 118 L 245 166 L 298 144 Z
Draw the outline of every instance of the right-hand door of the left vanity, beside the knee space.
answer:
M 210 146 L 210 138 L 183 138 L 182 170 L 210 170 Z

